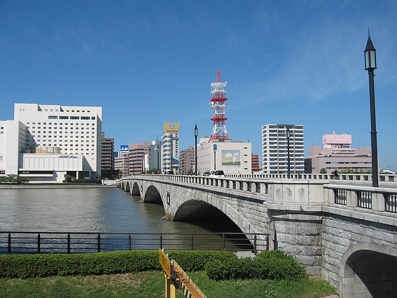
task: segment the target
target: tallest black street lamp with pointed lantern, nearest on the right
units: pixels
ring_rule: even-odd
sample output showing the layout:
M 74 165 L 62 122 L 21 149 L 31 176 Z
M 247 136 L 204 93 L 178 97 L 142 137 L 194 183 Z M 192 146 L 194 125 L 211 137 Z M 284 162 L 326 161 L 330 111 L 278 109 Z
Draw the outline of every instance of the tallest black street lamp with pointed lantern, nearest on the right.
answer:
M 365 70 L 369 78 L 369 101 L 371 109 L 371 156 L 372 156 L 372 187 L 378 187 L 378 146 L 376 142 L 376 119 L 375 119 L 375 89 L 374 70 L 376 67 L 376 49 L 372 44 L 368 29 L 368 41 L 364 50 Z

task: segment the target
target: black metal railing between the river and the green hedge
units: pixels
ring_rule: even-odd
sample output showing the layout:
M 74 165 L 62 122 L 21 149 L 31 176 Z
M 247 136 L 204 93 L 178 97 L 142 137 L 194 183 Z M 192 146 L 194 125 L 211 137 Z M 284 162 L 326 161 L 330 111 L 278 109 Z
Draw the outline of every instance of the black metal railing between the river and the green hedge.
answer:
M 0 254 L 85 253 L 115 250 L 269 249 L 264 233 L 88 233 L 0 231 Z

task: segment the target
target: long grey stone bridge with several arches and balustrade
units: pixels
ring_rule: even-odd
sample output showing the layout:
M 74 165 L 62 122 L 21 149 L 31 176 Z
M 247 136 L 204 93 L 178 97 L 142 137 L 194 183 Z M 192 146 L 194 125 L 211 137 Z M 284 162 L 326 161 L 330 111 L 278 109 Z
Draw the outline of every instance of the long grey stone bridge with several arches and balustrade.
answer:
M 135 175 L 118 186 L 161 202 L 172 220 L 216 210 L 245 233 L 270 234 L 270 248 L 293 254 L 339 297 L 397 297 L 397 183 Z

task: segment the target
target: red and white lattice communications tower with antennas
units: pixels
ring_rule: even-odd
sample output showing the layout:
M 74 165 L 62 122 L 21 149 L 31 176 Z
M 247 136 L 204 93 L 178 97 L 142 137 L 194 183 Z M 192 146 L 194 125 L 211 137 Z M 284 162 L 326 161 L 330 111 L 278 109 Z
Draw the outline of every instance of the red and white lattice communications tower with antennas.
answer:
M 227 100 L 225 90 L 226 84 L 227 82 L 222 83 L 220 81 L 220 72 L 218 71 L 216 73 L 216 83 L 211 83 L 212 98 L 209 105 L 214 110 L 214 116 L 211 118 L 214 126 L 209 142 L 211 140 L 216 140 L 218 142 L 230 140 L 225 126 L 225 121 L 227 120 L 225 117 L 225 109 L 227 108 L 227 104 L 225 103 Z

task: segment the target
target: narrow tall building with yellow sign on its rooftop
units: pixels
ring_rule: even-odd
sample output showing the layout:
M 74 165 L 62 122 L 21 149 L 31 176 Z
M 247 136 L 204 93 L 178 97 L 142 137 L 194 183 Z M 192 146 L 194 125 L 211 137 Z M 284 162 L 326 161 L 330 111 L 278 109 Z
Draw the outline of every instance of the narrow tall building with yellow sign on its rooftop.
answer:
M 178 173 L 179 168 L 179 123 L 164 123 L 164 135 L 161 138 L 161 169 L 163 172 Z

